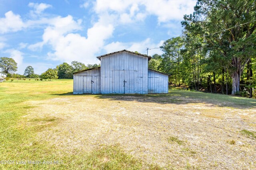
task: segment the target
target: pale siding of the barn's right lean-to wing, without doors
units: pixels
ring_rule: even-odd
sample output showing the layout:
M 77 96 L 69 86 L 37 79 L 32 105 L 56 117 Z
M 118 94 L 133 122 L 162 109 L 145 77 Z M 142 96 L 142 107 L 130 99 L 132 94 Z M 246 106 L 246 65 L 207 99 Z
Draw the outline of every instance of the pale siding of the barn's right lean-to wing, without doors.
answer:
M 148 93 L 168 93 L 168 75 L 148 70 Z

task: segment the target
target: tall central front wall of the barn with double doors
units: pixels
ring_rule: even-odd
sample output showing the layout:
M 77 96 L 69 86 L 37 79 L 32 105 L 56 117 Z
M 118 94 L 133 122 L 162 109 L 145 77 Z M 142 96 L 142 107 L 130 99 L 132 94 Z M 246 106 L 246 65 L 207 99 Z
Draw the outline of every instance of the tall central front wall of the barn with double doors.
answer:
M 147 57 L 123 51 L 101 57 L 100 60 L 102 94 L 124 92 L 148 94 Z

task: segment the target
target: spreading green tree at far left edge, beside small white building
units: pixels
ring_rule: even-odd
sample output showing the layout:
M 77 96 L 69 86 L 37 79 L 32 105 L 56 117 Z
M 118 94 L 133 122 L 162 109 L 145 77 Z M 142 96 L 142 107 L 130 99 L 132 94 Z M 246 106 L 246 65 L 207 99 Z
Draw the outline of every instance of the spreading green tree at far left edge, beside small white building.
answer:
M 1 57 L 0 58 L 0 68 L 6 74 L 17 71 L 17 63 L 12 58 Z

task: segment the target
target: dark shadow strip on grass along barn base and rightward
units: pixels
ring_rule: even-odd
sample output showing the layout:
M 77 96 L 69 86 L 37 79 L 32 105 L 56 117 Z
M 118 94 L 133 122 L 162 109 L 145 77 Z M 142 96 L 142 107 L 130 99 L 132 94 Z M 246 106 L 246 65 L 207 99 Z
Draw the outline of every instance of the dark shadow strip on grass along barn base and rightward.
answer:
M 94 96 L 95 98 L 136 101 L 158 104 L 207 104 L 210 107 L 256 108 L 256 100 L 230 95 L 210 94 L 182 90 L 169 90 L 168 94 L 53 94 L 58 96 Z

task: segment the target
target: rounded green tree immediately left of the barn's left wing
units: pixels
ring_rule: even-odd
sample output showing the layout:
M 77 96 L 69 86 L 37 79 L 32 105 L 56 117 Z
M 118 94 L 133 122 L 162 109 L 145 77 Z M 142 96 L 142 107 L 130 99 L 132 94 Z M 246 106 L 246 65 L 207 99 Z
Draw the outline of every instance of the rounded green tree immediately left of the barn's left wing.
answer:
M 58 78 L 60 79 L 73 77 L 73 68 L 68 63 L 60 64 L 56 69 L 58 69 Z

